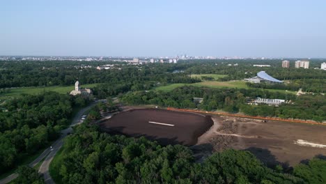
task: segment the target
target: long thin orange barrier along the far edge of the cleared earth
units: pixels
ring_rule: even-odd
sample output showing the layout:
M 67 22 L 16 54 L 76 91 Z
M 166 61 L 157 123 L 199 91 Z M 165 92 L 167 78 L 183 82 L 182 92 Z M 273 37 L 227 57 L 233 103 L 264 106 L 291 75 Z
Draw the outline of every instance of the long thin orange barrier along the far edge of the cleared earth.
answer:
M 304 120 L 294 120 L 294 119 L 284 119 L 284 118 L 272 118 L 272 117 L 261 117 L 261 116 L 248 116 L 242 114 L 231 114 L 227 112 L 203 112 L 199 110 L 192 110 L 192 109 L 176 109 L 167 107 L 167 110 L 170 111 L 180 111 L 180 112 L 196 112 L 196 113 L 203 113 L 203 114 L 217 114 L 217 115 L 225 115 L 225 116 L 235 116 L 240 118 L 254 118 L 254 119 L 263 119 L 263 120 L 270 120 L 270 121 L 286 121 L 290 123 L 306 123 L 311 125 L 326 125 L 326 123 L 317 123 L 315 121 L 304 121 Z

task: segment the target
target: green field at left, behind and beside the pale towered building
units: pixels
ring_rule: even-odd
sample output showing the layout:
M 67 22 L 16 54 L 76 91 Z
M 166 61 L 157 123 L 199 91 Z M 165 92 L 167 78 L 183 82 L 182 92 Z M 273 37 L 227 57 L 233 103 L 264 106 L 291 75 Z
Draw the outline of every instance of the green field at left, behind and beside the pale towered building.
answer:
M 84 84 L 81 88 L 92 88 L 97 86 L 100 83 L 96 84 Z M 12 97 L 17 97 L 22 94 L 36 95 L 39 93 L 43 93 L 46 91 L 55 91 L 61 94 L 69 93 L 70 91 L 75 89 L 75 85 L 72 86 L 49 86 L 49 87 L 24 87 L 17 89 L 10 89 L 8 93 L 4 93 L 0 95 L 0 100 L 8 99 Z

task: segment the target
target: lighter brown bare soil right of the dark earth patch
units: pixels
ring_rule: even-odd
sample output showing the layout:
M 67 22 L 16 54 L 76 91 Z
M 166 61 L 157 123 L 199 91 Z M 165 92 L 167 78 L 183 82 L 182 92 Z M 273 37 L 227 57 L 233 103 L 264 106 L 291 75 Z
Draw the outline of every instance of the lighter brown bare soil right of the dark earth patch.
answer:
M 212 117 L 214 119 L 214 116 Z M 326 125 L 286 123 L 221 116 L 215 135 L 201 139 L 213 151 L 226 148 L 247 150 L 267 165 L 294 166 L 315 156 L 325 156 Z M 212 130 L 211 130 L 212 131 Z M 304 140 L 311 144 L 297 144 Z

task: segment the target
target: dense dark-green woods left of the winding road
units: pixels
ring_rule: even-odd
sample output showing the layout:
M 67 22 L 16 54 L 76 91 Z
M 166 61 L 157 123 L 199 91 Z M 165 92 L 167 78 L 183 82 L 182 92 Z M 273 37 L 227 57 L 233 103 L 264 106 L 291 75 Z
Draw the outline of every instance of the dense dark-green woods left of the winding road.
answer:
M 15 167 L 59 136 L 68 125 L 72 107 L 86 104 L 80 96 L 48 92 L 8 100 L 0 111 L 0 171 Z

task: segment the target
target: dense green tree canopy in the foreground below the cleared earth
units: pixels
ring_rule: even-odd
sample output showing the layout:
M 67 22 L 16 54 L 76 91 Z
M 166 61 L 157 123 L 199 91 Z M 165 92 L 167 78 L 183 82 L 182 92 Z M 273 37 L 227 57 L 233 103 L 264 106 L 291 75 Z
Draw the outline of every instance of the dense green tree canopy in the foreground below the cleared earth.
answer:
M 160 146 L 80 125 L 65 140 L 53 169 L 62 183 L 323 183 L 323 164 L 315 158 L 284 173 L 280 166 L 267 168 L 248 151 L 235 150 L 195 162 L 185 146 Z

